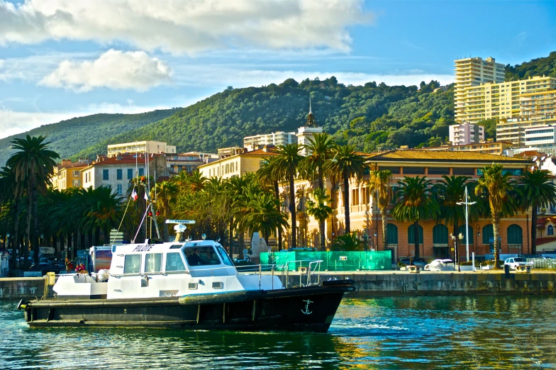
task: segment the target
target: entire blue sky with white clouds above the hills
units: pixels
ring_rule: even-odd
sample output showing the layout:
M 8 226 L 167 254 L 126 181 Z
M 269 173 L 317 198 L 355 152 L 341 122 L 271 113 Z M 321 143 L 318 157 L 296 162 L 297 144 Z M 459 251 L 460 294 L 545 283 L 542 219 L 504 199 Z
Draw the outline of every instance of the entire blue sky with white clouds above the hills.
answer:
M 0 138 L 288 78 L 450 84 L 458 57 L 555 50 L 554 0 L 0 0 Z

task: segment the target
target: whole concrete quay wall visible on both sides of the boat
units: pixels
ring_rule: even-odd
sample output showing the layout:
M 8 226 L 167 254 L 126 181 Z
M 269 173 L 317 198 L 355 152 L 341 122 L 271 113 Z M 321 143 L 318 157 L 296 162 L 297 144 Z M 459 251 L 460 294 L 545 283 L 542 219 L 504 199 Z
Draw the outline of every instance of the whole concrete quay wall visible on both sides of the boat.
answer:
M 270 274 L 270 272 L 263 272 Z M 307 274 L 274 272 L 288 286 L 307 283 Z M 453 295 L 556 295 L 556 271 L 533 270 L 520 274 L 504 270 L 480 271 L 321 271 L 320 280 L 353 279 L 350 296 L 453 296 Z M 316 283 L 316 275 L 311 282 Z M 43 295 L 44 278 L 0 279 L 0 300 L 35 298 Z

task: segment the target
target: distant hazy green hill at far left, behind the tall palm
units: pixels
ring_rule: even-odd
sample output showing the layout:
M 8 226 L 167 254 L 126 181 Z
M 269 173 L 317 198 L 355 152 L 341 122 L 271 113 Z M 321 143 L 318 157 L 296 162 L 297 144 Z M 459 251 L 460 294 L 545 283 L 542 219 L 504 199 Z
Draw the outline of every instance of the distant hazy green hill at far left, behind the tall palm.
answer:
M 26 133 L 12 135 L 0 140 L 0 164 L 4 165 L 13 153 L 10 142 L 14 138 L 25 138 L 26 135 L 47 137 L 50 146 L 60 157 L 66 158 L 82 151 L 96 142 L 112 138 L 120 133 L 135 130 L 148 123 L 172 116 L 182 108 L 173 108 L 138 114 L 94 114 L 62 120 L 59 123 L 42 125 Z M 106 152 L 106 147 L 101 152 Z

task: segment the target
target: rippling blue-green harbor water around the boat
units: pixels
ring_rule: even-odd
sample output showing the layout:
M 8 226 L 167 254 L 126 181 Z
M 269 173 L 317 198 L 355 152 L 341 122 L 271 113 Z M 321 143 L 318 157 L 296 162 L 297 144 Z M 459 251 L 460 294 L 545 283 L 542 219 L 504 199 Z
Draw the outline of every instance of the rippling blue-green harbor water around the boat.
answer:
M 2 301 L 0 369 L 556 368 L 555 306 L 552 296 L 350 298 L 328 334 L 308 334 L 30 329 Z

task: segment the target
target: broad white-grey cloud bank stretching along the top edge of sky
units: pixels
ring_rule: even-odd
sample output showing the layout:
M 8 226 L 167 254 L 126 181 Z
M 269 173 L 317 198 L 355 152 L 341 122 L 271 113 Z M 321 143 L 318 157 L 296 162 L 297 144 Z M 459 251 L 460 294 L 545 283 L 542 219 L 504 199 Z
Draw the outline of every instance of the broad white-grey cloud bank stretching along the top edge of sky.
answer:
M 124 41 L 143 50 L 349 50 L 347 28 L 373 21 L 363 0 L 0 0 L 0 45 Z

